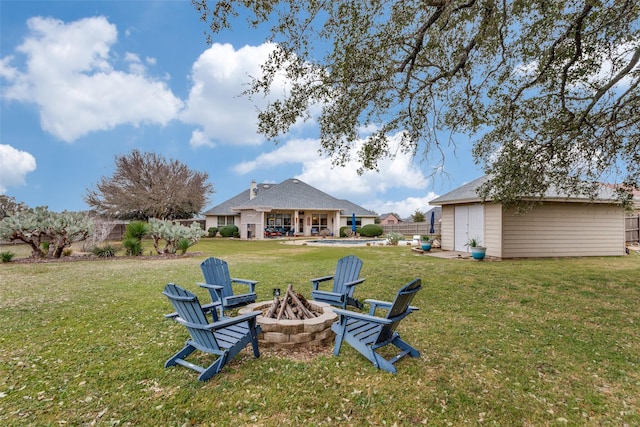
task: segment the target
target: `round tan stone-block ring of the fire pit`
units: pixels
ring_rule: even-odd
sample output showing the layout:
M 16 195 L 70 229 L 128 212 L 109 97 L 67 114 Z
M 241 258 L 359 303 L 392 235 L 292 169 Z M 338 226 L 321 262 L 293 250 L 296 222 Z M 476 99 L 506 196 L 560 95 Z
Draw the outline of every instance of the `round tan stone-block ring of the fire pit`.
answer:
M 261 311 L 256 318 L 262 328 L 258 336 L 260 347 L 276 349 L 294 349 L 324 347 L 333 344 L 335 334 L 331 325 L 338 319 L 333 307 L 323 302 L 309 301 L 311 309 L 318 317 L 303 320 L 271 319 L 264 316 L 273 301 L 249 304 L 238 310 L 239 314 Z

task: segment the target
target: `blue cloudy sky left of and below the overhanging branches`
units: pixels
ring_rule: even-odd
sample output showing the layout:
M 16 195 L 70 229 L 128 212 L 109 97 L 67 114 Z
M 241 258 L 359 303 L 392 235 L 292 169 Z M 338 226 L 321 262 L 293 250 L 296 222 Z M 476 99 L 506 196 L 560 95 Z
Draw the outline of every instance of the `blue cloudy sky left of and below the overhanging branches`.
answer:
M 208 45 L 189 0 L 0 0 L 0 194 L 87 210 L 87 190 L 138 149 L 206 172 L 215 192 L 204 210 L 253 180 L 297 178 L 407 218 L 482 175 L 466 141 L 434 176 L 404 154 L 363 175 L 354 162 L 332 167 L 313 121 L 266 140 L 257 115 L 267 100 L 241 95 L 273 48 L 266 29 L 238 20 Z

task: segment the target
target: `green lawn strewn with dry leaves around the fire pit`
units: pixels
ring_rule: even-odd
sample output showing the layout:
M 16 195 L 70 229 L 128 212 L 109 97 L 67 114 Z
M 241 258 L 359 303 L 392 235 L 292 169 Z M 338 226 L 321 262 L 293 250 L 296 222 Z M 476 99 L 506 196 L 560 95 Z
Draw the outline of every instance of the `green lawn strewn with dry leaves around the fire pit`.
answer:
M 5 249 L 5 248 L 2 248 Z M 8 248 L 18 253 L 18 249 Z M 148 251 L 148 249 L 147 249 Z M 204 239 L 170 260 L 0 264 L 0 424 L 639 425 L 640 256 L 476 262 L 407 247 L 321 248 Z M 211 381 L 164 361 L 186 330 L 162 295 L 216 255 L 234 277 L 309 296 L 312 277 L 356 254 L 356 296 L 423 290 L 399 331 L 421 352 L 391 375 L 339 357 L 263 350 Z M 23 255 L 17 255 L 23 256 Z M 206 356 L 204 356 L 206 358 Z

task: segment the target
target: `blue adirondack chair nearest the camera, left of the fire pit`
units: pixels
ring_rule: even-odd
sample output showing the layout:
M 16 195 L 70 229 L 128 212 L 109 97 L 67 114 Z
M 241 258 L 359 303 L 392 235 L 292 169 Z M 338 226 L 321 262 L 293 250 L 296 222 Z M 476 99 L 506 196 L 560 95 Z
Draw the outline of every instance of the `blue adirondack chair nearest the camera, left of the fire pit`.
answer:
M 253 355 L 260 356 L 258 335 L 261 329 L 260 325 L 256 324 L 256 317 L 260 312 L 209 323 L 198 297 L 191 292 L 169 283 L 165 286 L 163 294 L 169 298 L 176 310 L 177 316 L 173 319 L 184 325 L 191 335 L 184 348 L 167 360 L 165 368 L 181 365 L 199 372 L 198 379 L 206 381 L 220 372 L 224 365 L 249 343 L 253 347 Z M 187 362 L 185 359 L 196 350 L 216 355 L 217 358 L 207 368 Z

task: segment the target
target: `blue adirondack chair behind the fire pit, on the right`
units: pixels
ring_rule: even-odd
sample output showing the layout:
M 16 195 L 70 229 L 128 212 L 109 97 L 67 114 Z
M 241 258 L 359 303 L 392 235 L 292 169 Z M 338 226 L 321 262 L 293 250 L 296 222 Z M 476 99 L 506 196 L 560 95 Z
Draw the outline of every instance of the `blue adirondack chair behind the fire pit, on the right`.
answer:
M 338 260 L 336 273 L 333 276 L 323 276 L 311 279 L 313 290 L 311 291 L 311 299 L 314 301 L 326 302 L 343 309 L 347 305 L 352 305 L 361 309 L 362 303 L 353 298 L 353 292 L 356 285 L 365 281 L 359 279 L 360 270 L 362 269 L 362 260 L 355 255 L 349 255 Z M 320 289 L 320 283 L 333 279 L 333 289 L 331 291 L 323 291 Z

